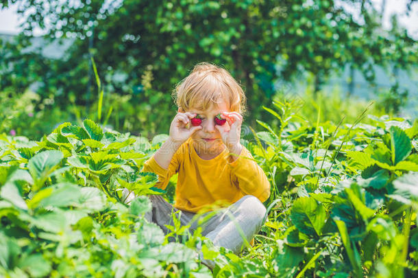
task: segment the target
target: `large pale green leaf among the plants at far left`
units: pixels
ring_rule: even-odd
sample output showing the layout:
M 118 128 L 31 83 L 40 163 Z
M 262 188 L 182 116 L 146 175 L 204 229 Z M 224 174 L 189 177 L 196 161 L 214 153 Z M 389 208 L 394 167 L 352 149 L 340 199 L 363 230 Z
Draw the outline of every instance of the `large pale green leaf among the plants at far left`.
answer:
M 34 179 L 47 177 L 64 158 L 59 150 L 45 150 L 38 152 L 27 163 L 27 169 Z

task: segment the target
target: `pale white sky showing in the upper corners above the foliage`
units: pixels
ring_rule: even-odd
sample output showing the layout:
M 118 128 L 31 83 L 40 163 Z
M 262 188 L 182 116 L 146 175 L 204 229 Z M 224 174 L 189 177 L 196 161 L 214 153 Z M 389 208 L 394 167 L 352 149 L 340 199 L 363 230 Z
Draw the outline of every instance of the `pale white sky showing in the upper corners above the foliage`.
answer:
M 382 1 L 384 0 L 371 0 L 376 9 L 381 10 Z M 418 3 L 415 2 L 412 5 L 412 10 L 409 15 L 406 15 L 406 3 L 408 0 L 386 0 L 386 8 L 383 16 L 383 26 L 385 29 L 391 27 L 391 16 L 393 14 L 398 15 L 400 25 L 406 27 L 408 34 L 415 39 L 418 39 Z M 336 3 L 343 5 L 345 8 L 349 6 L 344 4 L 343 0 L 336 0 Z M 10 5 L 9 8 L 0 10 L 0 34 L 18 34 L 20 31 L 19 24 L 21 19 L 16 12 L 17 5 Z M 359 9 L 351 8 L 353 14 L 358 13 Z M 35 30 L 34 34 L 41 35 L 41 30 Z

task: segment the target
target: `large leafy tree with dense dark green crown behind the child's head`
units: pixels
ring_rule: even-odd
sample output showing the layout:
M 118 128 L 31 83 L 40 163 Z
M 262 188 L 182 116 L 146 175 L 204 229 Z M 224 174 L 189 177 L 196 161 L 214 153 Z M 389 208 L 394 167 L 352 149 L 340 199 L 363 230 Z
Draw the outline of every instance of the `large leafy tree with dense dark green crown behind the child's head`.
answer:
M 51 38 L 77 38 L 66 59 L 51 61 L 47 73 L 38 73 L 51 76 L 42 91 L 65 92 L 58 97 L 63 104 L 69 94 L 79 103 L 92 97 L 87 93 L 90 55 L 99 73 L 110 76 L 104 80 L 110 91 L 138 93 L 132 97 L 138 104 L 159 95 L 152 110 L 169 110 L 164 119 L 175 113 L 171 90 L 193 65 L 204 60 L 222 65 L 245 87 L 250 124 L 264 119 L 262 106 L 271 102 L 278 79 L 310 71 L 319 89 L 330 71 L 348 62 L 369 80 L 369 65 L 395 60 L 404 67 L 417 62 L 415 40 L 406 33 L 382 32 L 373 9 L 365 8 L 370 0 L 349 1 L 361 2 L 364 24 L 333 0 L 18 2 L 21 12 L 36 8 L 27 16 L 24 34 L 30 36 L 38 25 L 49 28 Z M 144 73 L 153 78 L 151 94 L 141 91 Z M 160 123 L 158 131 L 167 120 Z

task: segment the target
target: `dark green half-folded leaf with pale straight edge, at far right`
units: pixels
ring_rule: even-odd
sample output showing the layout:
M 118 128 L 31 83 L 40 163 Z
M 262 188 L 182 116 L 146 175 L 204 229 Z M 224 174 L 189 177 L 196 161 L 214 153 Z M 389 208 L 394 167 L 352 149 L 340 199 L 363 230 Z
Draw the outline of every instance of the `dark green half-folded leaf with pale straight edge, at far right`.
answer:
M 391 134 L 392 162 L 393 165 L 396 165 L 399 161 L 408 157 L 412 150 L 412 145 L 408 135 L 397 126 L 391 126 L 389 132 Z

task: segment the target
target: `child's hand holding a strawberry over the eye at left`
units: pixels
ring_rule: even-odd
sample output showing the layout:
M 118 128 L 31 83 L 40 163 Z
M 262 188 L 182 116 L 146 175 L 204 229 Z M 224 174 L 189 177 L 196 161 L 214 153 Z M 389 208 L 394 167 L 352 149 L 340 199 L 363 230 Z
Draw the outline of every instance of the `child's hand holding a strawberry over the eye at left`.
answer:
M 196 113 L 180 113 L 178 112 L 177 115 L 175 115 L 173 121 L 171 121 L 170 126 L 170 135 L 172 141 L 176 143 L 183 143 L 193 135 L 193 133 L 197 130 L 200 130 L 201 126 L 191 126 L 190 119 L 193 119 L 196 117 Z M 190 126 L 190 128 L 187 128 L 187 126 Z

